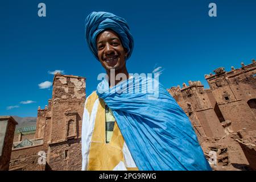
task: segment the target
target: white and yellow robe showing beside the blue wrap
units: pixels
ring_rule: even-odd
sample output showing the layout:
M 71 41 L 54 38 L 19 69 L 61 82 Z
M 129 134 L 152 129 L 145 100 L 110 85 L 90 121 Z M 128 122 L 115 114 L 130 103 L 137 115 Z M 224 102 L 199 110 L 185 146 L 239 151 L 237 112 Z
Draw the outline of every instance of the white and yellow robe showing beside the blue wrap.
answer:
M 138 170 L 116 122 L 106 143 L 105 102 L 96 92 L 86 98 L 82 117 L 82 170 Z

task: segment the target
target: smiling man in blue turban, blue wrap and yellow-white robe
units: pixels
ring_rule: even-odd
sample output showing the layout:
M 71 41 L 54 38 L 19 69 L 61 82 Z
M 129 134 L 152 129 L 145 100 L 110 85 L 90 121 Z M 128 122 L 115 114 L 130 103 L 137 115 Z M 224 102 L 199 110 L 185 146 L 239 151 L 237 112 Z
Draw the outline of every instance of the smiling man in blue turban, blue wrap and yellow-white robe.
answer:
M 85 32 L 107 76 L 85 102 L 82 170 L 210 170 L 174 98 L 154 79 L 129 76 L 126 61 L 134 42 L 126 20 L 93 12 Z M 118 74 L 122 80 L 115 79 Z M 157 97 L 147 90 L 153 82 Z

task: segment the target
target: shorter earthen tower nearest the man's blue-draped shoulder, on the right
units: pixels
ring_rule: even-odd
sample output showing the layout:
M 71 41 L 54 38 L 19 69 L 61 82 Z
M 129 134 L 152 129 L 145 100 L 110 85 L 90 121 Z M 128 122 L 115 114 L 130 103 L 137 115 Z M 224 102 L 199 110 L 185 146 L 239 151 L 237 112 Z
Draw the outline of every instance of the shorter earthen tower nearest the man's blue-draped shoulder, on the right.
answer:
M 224 136 L 224 129 L 214 112 L 212 102 L 205 92 L 204 86 L 199 81 L 189 81 L 189 85 L 183 84 L 183 88 L 168 90 L 188 115 L 196 131 L 197 137 Z

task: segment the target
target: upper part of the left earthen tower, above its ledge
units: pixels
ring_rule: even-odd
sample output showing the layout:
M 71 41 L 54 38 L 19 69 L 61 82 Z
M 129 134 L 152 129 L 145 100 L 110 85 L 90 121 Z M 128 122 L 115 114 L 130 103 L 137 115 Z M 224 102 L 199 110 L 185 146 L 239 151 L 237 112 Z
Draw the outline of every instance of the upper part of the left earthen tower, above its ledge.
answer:
M 56 76 L 52 96 L 51 142 L 67 140 L 72 136 L 81 137 L 85 102 L 84 78 Z M 71 120 L 73 122 L 69 126 Z M 71 127 L 72 134 L 68 134 Z

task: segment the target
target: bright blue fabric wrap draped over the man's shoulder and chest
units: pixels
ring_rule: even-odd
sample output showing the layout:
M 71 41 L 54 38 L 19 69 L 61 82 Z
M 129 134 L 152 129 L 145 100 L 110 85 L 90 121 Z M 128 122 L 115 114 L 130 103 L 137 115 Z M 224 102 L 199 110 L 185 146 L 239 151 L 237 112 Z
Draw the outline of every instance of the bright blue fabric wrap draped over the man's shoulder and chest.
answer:
M 154 81 L 133 77 L 109 88 L 105 78 L 97 86 L 97 94 L 112 109 L 138 169 L 212 170 L 189 118 L 170 93 L 161 84 L 156 99 L 150 99 L 152 93 L 143 93 Z M 135 86 L 138 82 L 140 86 Z M 134 93 L 124 93 L 127 89 Z

